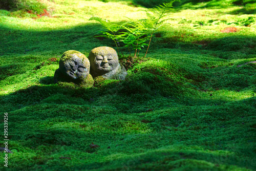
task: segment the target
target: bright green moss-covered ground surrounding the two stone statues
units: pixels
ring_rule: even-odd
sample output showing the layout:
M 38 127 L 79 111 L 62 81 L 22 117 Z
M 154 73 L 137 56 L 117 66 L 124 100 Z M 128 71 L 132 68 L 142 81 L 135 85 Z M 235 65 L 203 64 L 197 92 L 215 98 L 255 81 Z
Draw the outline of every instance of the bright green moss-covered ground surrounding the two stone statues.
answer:
M 40 2 L 47 15 L 0 10 L 0 142 L 8 113 L 12 152 L 1 170 L 256 170 L 253 1 L 177 4 L 126 80 L 87 89 L 53 76 L 65 51 L 115 48 L 89 18 L 122 23 L 149 9 Z

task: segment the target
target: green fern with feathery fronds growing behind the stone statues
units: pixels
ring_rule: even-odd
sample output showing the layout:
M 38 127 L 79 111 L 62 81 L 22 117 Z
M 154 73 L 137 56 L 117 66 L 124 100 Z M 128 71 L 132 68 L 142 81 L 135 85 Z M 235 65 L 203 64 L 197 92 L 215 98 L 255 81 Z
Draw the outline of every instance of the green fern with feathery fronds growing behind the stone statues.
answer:
M 101 24 L 101 26 L 106 29 L 108 32 L 101 32 L 103 35 L 101 37 L 107 37 L 114 40 L 116 47 L 120 49 L 119 42 L 123 42 L 125 47 L 128 48 L 131 56 L 130 47 L 132 47 L 134 52 L 134 57 L 139 55 L 139 51 L 144 46 L 147 46 L 147 50 L 145 53 L 145 57 L 150 47 L 150 42 L 153 37 L 153 34 L 156 30 L 158 30 L 162 25 L 166 24 L 166 22 L 171 19 L 165 17 L 170 15 L 170 11 L 172 10 L 172 4 L 174 1 L 169 3 L 163 3 L 163 5 L 156 6 L 154 11 L 147 12 L 146 19 L 132 19 L 128 18 L 129 22 L 126 22 L 122 25 L 117 25 L 115 23 L 111 23 L 108 20 L 101 19 L 99 17 L 91 17 L 89 20 L 96 20 Z M 121 32 L 121 34 L 116 34 L 120 29 L 124 29 L 126 31 Z M 149 40 L 148 44 L 146 43 Z M 122 52 L 121 52 L 122 53 Z M 119 54 L 119 51 L 118 51 Z M 122 53 L 123 55 L 123 53 Z

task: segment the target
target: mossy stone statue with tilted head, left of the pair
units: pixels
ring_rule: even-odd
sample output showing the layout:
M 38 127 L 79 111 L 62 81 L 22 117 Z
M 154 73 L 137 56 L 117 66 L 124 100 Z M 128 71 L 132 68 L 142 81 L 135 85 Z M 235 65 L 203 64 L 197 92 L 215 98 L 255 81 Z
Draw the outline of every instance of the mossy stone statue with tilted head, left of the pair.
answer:
M 82 53 L 74 50 L 64 52 L 59 60 L 59 68 L 54 74 L 54 83 L 74 82 L 83 86 L 93 86 L 93 77 L 89 74 L 90 61 Z

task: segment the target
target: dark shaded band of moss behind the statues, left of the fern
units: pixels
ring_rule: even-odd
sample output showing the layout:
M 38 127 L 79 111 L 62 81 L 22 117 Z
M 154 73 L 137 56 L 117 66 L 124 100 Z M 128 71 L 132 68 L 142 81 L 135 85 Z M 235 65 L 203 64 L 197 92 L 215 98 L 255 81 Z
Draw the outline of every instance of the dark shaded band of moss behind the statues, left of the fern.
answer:
M 95 30 L 92 32 L 91 30 Z M 67 50 L 89 53 L 95 46 L 115 47 L 115 43 L 95 37 L 103 31 L 100 24 L 88 24 L 64 30 L 27 31 L 0 26 L 6 39 L 2 39 L 0 54 L 3 55 L 44 55 Z M 2 37 L 3 38 L 3 37 Z M 55 57 L 55 56 L 54 56 Z

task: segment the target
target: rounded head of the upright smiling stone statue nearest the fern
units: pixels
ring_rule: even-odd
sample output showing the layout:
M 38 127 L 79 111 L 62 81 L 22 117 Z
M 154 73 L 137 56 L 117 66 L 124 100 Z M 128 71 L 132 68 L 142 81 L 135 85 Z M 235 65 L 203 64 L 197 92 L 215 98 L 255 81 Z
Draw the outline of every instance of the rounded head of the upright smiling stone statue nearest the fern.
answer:
M 115 70 L 119 66 L 116 51 L 110 47 L 98 47 L 91 50 L 88 56 L 91 72 L 100 76 Z

